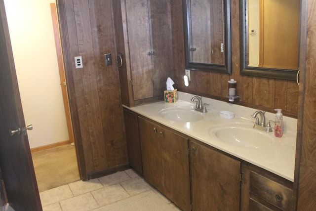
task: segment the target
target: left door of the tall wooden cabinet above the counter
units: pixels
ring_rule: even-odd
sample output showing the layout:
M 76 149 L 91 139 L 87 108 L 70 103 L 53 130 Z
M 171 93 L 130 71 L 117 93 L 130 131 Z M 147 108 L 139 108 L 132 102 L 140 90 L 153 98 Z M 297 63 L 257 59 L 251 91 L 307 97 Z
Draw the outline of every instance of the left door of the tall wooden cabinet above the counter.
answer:
M 126 17 L 134 100 L 153 97 L 148 0 L 126 0 Z

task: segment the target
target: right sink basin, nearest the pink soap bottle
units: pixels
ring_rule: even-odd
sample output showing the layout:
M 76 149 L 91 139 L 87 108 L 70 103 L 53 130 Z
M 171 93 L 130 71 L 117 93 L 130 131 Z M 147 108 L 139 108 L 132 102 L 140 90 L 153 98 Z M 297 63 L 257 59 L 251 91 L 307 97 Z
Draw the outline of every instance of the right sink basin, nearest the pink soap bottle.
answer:
M 253 124 L 229 123 L 211 127 L 209 135 L 228 144 L 246 148 L 262 148 L 272 145 L 272 140 L 265 131 L 253 128 Z

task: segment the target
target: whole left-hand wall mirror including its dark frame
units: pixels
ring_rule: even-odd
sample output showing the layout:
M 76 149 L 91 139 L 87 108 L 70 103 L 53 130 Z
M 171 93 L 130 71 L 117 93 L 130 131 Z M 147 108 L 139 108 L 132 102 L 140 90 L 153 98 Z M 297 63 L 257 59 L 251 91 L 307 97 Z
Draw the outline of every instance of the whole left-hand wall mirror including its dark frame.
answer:
M 183 0 L 186 69 L 231 73 L 229 0 Z

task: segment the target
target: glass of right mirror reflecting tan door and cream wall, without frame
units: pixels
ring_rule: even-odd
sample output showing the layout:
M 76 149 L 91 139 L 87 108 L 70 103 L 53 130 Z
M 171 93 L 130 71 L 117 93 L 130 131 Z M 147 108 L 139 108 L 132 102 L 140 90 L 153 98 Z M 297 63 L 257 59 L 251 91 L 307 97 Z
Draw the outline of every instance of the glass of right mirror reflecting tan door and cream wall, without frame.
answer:
M 248 0 L 250 67 L 298 69 L 298 0 Z

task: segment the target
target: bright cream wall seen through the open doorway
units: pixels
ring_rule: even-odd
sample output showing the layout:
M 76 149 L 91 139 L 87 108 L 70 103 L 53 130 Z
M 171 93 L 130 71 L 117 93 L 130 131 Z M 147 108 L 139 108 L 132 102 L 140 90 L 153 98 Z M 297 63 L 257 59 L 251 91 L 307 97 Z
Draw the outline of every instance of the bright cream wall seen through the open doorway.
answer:
M 50 12 L 55 0 L 4 0 L 30 147 L 69 140 Z

